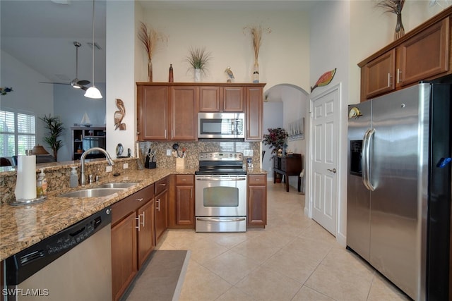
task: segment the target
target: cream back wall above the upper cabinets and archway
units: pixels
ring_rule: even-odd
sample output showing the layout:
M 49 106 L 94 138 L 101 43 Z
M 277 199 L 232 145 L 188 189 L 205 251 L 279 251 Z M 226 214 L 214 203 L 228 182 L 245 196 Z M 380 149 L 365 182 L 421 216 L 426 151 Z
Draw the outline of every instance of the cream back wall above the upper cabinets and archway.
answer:
M 251 82 L 254 51 L 244 27 L 261 24 L 263 34 L 259 53 L 260 82 L 268 89 L 280 83 L 306 88 L 309 85 L 309 39 L 307 13 L 297 11 L 145 11 L 145 23 L 167 35 L 153 57 L 155 82 L 167 82 L 173 64 L 174 82 L 193 82 L 186 63 L 190 47 L 206 47 L 212 54 L 203 82 L 225 82 L 230 66 L 235 82 Z M 141 56 L 145 57 L 143 47 Z M 143 64 L 145 61 L 143 61 Z M 142 81 L 145 81 L 143 74 Z

